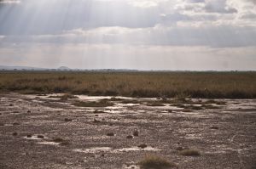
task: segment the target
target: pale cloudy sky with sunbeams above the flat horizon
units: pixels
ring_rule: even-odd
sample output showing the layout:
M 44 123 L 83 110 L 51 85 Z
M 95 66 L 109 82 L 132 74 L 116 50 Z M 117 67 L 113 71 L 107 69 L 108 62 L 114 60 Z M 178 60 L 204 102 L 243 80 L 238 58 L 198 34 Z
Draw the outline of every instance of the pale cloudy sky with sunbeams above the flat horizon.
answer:
M 256 70 L 256 0 L 0 0 L 0 65 Z

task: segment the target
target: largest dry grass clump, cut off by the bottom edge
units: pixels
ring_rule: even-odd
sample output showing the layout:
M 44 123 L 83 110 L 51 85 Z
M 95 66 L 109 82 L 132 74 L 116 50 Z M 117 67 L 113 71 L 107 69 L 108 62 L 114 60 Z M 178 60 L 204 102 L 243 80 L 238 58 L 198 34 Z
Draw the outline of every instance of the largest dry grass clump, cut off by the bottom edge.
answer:
M 177 167 L 176 164 L 154 155 L 145 157 L 143 161 L 138 162 L 138 165 L 142 169 L 170 169 Z

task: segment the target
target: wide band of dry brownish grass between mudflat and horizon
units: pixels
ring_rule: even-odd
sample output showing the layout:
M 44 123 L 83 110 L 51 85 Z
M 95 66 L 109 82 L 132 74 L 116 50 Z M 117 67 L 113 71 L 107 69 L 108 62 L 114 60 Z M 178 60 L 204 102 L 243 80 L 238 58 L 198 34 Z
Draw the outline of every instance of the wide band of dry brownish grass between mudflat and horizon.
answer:
M 256 98 L 256 72 L 0 73 L 0 91 L 131 97 Z

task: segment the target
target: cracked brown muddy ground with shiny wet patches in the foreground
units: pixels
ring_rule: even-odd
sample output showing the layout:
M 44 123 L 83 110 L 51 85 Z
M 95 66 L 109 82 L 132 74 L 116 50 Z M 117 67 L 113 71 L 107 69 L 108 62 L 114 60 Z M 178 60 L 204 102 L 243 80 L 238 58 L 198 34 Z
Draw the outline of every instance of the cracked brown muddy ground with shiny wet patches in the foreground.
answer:
M 110 97 L 79 96 L 100 99 Z M 256 99 L 222 99 L 203 110 L 120 99 L 131 103 L 88 108 L 73 106 L 78 99 L 0 94 L 0 168 L 137 169 L 146 155 L 179 169 L 256 168 Z

